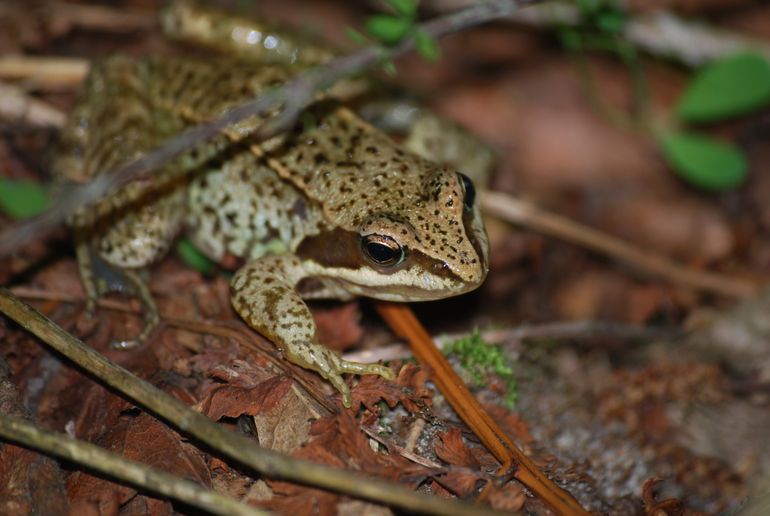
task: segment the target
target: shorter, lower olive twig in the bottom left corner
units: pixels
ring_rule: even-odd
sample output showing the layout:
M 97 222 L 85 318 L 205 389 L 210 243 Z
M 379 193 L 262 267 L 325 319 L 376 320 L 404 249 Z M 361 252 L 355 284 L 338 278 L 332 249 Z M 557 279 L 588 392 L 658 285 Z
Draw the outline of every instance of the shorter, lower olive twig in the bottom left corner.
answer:
M 190 480 L 128 460 L 68 435 L 44 430 L 18 417 L 0 414 L 0 439 L 72 461 L 142 491 L 165 496 L 212 514 L 269 514 L 205 489 Z

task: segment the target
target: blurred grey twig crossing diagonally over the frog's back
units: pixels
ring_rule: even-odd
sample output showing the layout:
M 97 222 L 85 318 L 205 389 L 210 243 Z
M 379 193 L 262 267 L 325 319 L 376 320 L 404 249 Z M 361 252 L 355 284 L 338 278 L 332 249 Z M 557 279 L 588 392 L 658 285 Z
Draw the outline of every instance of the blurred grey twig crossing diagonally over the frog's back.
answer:
M 463 11 L 448 14 L 421 25 L 421 30 L 434 38 L 464 30 L 482 23 L 508 16 L 522 6 L 539 0 L 493 0 L 476 4 Z M 193 127 L 170 139 L 163 146 L 150 151 L 114 172 L 96 174 L 88 184 L 63 193 L 58 202 L 45 213 L 14 224 L 0 234 L 0 256 L 18 251 L 27 242 L 42 238 L 76 209 L 93 205 L 120 186 L 156 170 L 195 145 L 222 133 L 227 127 L 260 112 L 268 112 L 283 105 L 281 114 L 259 127 L 249 138 L 264 141 L 296 120 L 298 113 L 310 104 L 316 91 L 324 90 L 343 77 L 372 67 L 386 59 L 405 53 L 414 47 L 414 39 L 407 38 L 393 48 L 373 45 L 353 54 L 333 59 L 328 64 L 311 68 L 280 88 L 271 89 L 255 100 L 238 106 L 222 117 Z

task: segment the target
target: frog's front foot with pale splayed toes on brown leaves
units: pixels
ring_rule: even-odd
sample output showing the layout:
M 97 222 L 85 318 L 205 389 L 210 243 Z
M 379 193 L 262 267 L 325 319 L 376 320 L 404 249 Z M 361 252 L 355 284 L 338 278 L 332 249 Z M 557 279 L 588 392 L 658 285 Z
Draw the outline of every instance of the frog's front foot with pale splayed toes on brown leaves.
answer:
M 393 380 L 396 376 L 389 367 L 380 364 L 362 364 L 360 362 L 348 362 L 326 346 L 318 343 L 299 342 L 290 344 L 283 350 L 284 355 L 291 362 L 306 369 L 312 369 L 331 382 L 335 389 L 342 394 L 342 404 L 350 408 L 350 388 L 342 375 L 351 374 L 378 374 L 387 380 Z

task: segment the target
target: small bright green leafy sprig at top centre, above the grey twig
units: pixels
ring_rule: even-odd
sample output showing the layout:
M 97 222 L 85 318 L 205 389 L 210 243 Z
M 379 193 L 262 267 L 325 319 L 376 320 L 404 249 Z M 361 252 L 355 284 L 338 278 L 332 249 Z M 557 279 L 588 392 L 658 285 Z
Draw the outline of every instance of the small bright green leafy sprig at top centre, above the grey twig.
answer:
M 384 47 L 394 47 L 407 38 L 414 38 L 417 52 L 427 61 L 436 62 L 441 58 L 441 49 L 430 34 L 417 23 L 419 0 L 385 0 L 392 13 L 373 14 L 364 21 L 366 34 Z M 370 40 L 355 29 L 347 28 L 348 37 L 363 45 Z M 395 72 L 392 61 L 383 63 L 385 71 Z

